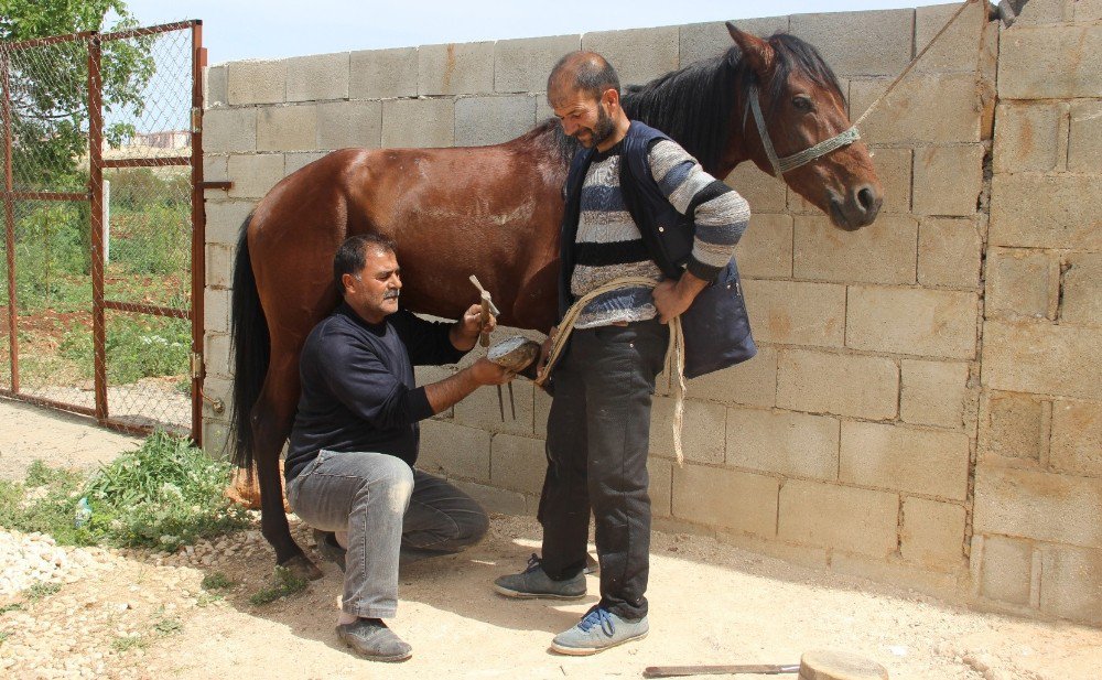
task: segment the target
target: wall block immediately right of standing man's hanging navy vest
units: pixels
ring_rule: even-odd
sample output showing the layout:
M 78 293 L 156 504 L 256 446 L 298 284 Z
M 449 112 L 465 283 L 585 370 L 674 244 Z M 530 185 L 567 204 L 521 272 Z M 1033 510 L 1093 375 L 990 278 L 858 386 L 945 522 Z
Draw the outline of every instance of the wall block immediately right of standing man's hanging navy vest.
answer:
M 799 281 L 743 281 L 754 336 L 785 345 L 841 347 L 845 287 Z

